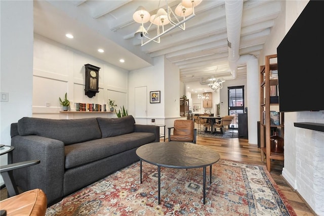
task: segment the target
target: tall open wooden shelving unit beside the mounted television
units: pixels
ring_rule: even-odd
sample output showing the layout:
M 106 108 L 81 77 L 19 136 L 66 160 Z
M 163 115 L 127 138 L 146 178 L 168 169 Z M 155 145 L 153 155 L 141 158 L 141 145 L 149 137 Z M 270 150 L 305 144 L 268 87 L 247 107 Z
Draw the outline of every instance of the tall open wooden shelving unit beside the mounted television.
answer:
M 276 59 L 277 55 L 265 57 L 265 65 L 260 66 L 260 148 L 261 161 L 266 158 L 268 171 L 271 169 L 271 159 L 284 160 L 284 153 L 271 152 L 271 128 L 280 129 L 280 137 L 284 137 L 284 113 L 280 113 L 280 125 L 270 124 L 270 110 L 278 109 L 278 103 L 270 103 L 270 86 L 278 85 L 278 79 L 270 79 L 270 70 L 277 70 L 277 63 L 271 63 L 271 59 Z M 265 112 L 265 115 L 263 114 Z

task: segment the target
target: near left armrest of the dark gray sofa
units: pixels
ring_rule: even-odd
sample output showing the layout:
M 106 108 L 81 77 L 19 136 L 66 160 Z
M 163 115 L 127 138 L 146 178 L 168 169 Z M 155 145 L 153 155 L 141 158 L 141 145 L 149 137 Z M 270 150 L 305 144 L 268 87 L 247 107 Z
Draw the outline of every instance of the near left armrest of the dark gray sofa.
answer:
M 48 202 L 63 196 L 64 143 L 34 135 L 15 136 L 11 139 L 13 163 L 41 160 L 37 166 L 14 170 L 16 184 L 23 190 L 42 189 Z

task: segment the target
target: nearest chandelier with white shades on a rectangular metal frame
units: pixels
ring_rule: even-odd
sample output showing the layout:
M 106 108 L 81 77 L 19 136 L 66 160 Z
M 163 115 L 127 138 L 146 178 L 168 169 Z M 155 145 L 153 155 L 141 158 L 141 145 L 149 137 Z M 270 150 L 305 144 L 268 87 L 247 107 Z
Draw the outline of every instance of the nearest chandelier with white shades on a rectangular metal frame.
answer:
M 148 11 L 146 11 L 142 6 L 139 6 L 135 13 L 133 14 L 133 19 L 135 22 L 140 23 L 141 26 L 138 28 L 138 30 L 135 32 L 134 36 L 136 38 L 139 38 L 142 40 L 142 45 L 144 46 L 148 44 L 150 41 L 154 41 L 159 43 L 160 42 L 160 36 L 164 35 L 165 33 L 171 31 L 172 29 L 179 27 L 182 30 L 186 29 L 185 22 L 195 16 L 194 13 L 194 7 L 199 5 L 203 0 L 182 0 L 182 3 L 180 3 L 175 11 L 173 12 L 170 6 L 168 5 L 168 2 L 166 0 L 167 4 L 167 11 L 163 8 L 160 8 L 160 2 L 158 2 L 158 10 L 157 13 L 154 15 L 150 15 Z M 174 21 L 171 18 L 171 13 L 174 16 Z M 192 14 L 191 14 L 192 13 Z M 191 14 L 191 15 L 190 15 Z M 180 21 L 178 17 L 183 17 L 183 19 Z M 190 16 L 189 16 L 190 15 Z M 188 16 L 188 17 L 186 17 Z M 144 28 L 144 23 L 147 23 L 150 21 L 150 25 L 147 29 Z M 167 30 L 164 29 L 165 25 L 171 24 L 171 27 Z M 148 36 L 148 30 L 151 27 L 151 25 L 156 25 L 156 35 L 152 38 Z M 160 33 L 160 26 L 162 27 L 162 32 Z M 143 38 L 148 39 L 146 42 L 143 42 Z

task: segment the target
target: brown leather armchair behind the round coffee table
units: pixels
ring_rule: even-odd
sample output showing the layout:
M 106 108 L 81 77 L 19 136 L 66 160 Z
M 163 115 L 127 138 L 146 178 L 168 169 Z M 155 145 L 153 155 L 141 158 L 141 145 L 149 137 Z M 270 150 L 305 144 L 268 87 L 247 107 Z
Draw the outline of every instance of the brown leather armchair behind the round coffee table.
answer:
M 190 142 L 196 143 L 197 129 L 194 128 L 194 122 L 192 120 L 182 120 L 178 119 L 174 121 L 173 127 L 168 127 L 169 129 L 169 142 Z M 173 134 L 171 131 L 173 129 Z

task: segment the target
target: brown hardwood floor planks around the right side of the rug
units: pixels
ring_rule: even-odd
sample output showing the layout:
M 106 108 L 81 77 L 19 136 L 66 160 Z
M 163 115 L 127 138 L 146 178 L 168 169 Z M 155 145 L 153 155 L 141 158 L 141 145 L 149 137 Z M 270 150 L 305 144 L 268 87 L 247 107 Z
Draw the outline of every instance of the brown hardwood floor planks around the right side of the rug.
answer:
M 215 139 L 197 137 L 197 144 L 215 149 L 223 159 L 265 165 L 265 163 L 261 162 L 260 149 L 258 149 L 258 146 L 250 145 L 247 139 Z M 281 176 L 283 165 L 283 161 L 273 161 L 271 163 L 270 174 L 279 189 L 284 193 L 298 216 L 316 215 L 298 195 L 298 193 L 295 192 Z

